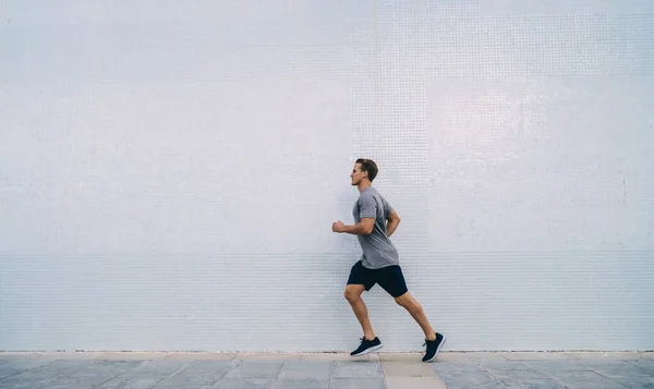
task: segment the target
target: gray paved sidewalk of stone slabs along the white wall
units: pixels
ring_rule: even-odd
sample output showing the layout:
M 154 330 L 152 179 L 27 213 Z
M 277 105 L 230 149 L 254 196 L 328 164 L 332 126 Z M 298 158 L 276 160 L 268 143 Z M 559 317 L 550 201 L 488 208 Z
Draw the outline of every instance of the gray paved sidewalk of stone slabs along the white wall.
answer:
M 0 389 L 654 388 L 654 353 L 3 353 Z

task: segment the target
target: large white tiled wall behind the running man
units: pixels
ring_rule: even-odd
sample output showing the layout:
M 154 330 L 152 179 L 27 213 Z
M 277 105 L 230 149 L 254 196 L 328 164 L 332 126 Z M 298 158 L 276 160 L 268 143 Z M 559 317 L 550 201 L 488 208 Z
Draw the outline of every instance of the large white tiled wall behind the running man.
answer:
M 9 0 L 0 58 L 0 350 L 353 349 L 356 157 L 446 350 L 654 349 L 651 1 Z

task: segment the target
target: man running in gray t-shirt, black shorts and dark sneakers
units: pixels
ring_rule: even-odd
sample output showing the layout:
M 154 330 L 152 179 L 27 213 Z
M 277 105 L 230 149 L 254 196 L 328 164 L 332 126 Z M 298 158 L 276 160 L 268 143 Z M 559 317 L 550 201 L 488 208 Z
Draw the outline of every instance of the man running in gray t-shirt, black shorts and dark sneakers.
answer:
M 356 235 L 363 250 L 361 259 L 352 266 L 346 287 L 346 299 L 363 329 L 361 344 L 352 351 L 351 355 L 364 355 L 382 349 L 382 341 L 375 336 L 367 308 L 361 299 L 364 290 L 370 291 L 375 283 L 379 283 L 399 305 L 411 314 L 425 332 L 425 344 L 423 345 L 427 347 L 427 351 L 423 356 L 423 362 L 432 362 L 445 343 L 445 337 L 434 331 L 422 306 L 409 294 L 400 268 L 398 251 L 389 239 L 398 228 L 400 217 L 372 186 L 377 171 L 377 165 L 373 160 L 362 158 L 356 160 L 350 174 L 352 186 L 356 186 L 360 193 L 354 209 L 352 209 L 355 224 L 346 226 L 340 220 L 331 224 L 334 232 Z

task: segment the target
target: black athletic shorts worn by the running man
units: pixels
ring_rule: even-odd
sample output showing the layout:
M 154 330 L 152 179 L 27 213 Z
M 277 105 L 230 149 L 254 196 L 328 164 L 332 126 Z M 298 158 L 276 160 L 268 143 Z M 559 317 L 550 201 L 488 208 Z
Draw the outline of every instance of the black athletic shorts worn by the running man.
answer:
M 399 265 L 383 267 L 380 269 L 368 269 L 358 262 L 350 270 L 348 284 L 364 285 L 370 291 L 375 283 L 384 288 L 393 297 L 399 297 L 407 293 L 407 281 Z

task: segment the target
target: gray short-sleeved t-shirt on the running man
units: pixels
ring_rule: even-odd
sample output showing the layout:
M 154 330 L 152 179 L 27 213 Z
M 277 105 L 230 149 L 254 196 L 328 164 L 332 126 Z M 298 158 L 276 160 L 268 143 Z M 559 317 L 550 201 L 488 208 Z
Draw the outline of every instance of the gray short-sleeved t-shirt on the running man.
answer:
M 379 269 L 399 265 L 398 250 L 386 235 L 386 220 L 392 207 L 373 186 L 366 187 L 354 204 L 352 215 L 360 222 L 363 218 L 374 218 L 375 227 L 370 235 L 356 235 L 363 250 L 361 263 L 368 269 Z

